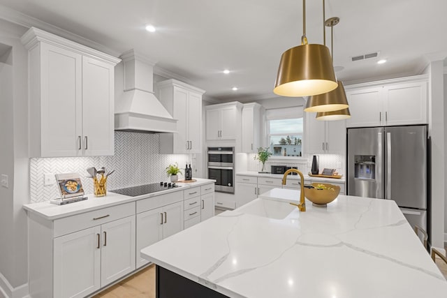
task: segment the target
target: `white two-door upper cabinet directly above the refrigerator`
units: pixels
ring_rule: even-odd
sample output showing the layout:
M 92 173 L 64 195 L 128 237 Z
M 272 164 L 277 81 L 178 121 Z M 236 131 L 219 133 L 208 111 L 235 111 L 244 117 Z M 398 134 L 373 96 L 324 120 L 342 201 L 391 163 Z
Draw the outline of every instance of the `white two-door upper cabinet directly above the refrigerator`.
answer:
M 347 127 L 427 124 L 427 77 L 404 77 L 346 87 Z

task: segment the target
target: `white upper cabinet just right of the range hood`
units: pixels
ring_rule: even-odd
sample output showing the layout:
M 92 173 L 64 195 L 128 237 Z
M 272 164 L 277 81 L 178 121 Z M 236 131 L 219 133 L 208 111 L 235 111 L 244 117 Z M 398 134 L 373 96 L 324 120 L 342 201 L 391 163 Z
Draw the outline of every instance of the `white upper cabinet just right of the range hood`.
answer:
M 178 133 L 160 135 L 160 152 L 166 154 L 200 153 L 202 135 L 202 95 L 205 91 L 177 80 L 157 84 L 159 100 L 177 119 Z

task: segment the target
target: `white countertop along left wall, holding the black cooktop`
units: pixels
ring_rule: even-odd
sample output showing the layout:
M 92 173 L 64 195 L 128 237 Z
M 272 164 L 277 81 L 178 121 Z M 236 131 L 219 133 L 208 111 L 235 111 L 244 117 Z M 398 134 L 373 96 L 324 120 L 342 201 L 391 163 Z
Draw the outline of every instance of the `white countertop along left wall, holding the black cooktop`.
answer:
M 33 212 L 38 216 L 42 216 L 43 218 L 52 221 L 57 218 L 63 218 L 66 216 L 81 214 L 87 211 L 103 209 L 105 207 L 112 207 L 127 202 L 135 202 L 137 200 L 153 198 L 156 197 L 157 195 L 163 195 L 165 193 L 171 193 L 176 191 L 183 191 L 186 188 L 191 188 L 194 186 L 202 186 L 205 184 L 215 182 L 215 180 L 213 179 L 201 179 L 201 178 L 194 178 L 194 179 L 196 179 L 197 181 L 189 183 L 177 183 L 179 186 L 182 187 L 170 188 L 167 189 L 166 191 L 157 191 L 156 193 L 149 193 L 147 195 L 138 195 L 137 197 L 120 195 L 118 193 L 112 193 L 108 191 L 105 197 L 96 198 L 93 194 L 87 194 L 88 197 L 87 200 L 74 202 L 71 204 L 57 205 L 57 204 L 51 204 L 49 201 L 47 201 L 47 202 L 24 204 L 23 207 L 28 212 Z

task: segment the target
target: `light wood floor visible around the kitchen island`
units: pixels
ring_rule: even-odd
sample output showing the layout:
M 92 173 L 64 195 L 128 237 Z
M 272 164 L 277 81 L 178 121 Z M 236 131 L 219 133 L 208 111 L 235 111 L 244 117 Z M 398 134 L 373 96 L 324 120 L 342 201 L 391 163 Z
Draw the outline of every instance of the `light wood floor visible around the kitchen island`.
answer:
M 447 279 L 447 265 L 437 258 L 436 263 Z M 151 265 L 142 271 L 126 278 L 95 295 L 93 298 L 155 298 L 155 265 Z

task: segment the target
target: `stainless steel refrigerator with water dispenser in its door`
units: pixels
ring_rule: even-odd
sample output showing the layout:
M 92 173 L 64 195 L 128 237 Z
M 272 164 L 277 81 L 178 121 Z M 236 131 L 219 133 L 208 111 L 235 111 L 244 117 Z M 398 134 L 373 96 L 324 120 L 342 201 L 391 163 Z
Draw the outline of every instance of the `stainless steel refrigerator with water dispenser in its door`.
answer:
M 348 128 L 348 194 L 395 200 L 427 231 L 427 126 Z

